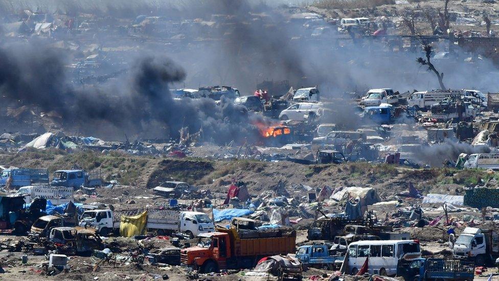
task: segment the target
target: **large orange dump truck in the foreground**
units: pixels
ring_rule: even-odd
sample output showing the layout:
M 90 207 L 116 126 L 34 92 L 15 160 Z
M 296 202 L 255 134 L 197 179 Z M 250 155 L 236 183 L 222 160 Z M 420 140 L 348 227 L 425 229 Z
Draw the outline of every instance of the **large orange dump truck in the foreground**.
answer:
M 221 269 L 252 268 L 262 257 L 296 252 L 296 231 L 285 234 L 278 231 L 277 237 L 255 237 L 268 235 L 257 230 L 240 235 L 239 228 L 233 228 L 234 220 L 252 221 L 236 218 L 231 222 L 230 229 L 217 228 L 217 232 L 200 234 L 200 237 L 211 240 L 205 247 L 180 250 L 182 264 L 208 273 Z

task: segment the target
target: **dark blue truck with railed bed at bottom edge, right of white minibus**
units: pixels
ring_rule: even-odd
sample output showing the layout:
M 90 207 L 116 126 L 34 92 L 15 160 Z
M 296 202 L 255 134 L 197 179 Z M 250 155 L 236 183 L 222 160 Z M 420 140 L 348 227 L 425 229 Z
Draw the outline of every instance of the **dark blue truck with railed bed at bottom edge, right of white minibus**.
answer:
M 397 276 L 405 281 L 425 280 L 473 280 L 474 263 L 461 260 L 443 260 L 442 258 L 416 258 L 412 261 L 400 260 Z

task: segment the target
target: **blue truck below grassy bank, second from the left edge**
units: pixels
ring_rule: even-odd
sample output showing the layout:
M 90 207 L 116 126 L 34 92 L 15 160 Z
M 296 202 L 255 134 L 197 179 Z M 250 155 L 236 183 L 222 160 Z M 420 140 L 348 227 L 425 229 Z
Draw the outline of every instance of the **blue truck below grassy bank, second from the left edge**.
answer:
M 100 171 L 87 172 L 85 170 L 57 170 L 54 172 L 52 186 L 73 187 L 74 189 L 80 186 L 91 187 L 102 185 L 100 179 Z

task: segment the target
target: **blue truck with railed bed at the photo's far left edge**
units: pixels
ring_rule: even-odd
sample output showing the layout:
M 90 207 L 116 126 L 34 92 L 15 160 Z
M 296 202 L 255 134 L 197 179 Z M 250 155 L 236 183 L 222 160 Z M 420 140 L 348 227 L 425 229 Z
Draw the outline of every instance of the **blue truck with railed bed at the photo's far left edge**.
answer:
M 5 169 L 0 174 L 0 186 L 5 186 L 9 178 L 12 179 L 12 187 L 29 186 L 36 183 L 49 183 L 49 171 L 47 169 L 13 168 Z

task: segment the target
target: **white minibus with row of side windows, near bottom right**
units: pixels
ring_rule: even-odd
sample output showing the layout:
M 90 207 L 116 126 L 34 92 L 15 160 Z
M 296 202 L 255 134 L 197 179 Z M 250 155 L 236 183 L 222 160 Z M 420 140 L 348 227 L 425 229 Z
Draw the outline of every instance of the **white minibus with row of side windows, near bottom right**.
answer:
M 348 246 L 347 272 L 357 274 L 359 269 L 368 261 L 368 272 L 382 276 L 397 274 L 397 264 L 402 258 L 414 260 L 421 257 L 421 248 L 418 241 L 413 240 L 379 240 L 358 241 Z

